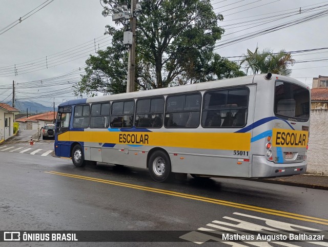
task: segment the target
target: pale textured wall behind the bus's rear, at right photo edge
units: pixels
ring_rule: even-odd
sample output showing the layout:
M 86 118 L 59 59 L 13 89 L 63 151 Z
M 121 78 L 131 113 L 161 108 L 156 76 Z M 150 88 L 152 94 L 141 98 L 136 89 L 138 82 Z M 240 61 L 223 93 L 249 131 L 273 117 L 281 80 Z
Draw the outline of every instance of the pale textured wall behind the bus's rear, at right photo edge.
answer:
M 311 110 L 308 172 L 328 176 L 328 109 Z

